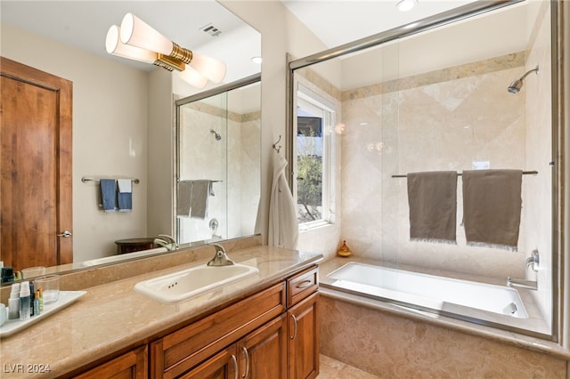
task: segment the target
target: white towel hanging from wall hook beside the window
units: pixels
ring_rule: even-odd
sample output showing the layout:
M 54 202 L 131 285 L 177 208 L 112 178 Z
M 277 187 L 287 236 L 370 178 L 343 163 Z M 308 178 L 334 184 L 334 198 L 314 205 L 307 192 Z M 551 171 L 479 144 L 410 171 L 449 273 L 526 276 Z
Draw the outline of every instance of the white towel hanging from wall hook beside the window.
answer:
M 289 249 L 297 248 L 299 227 L 297 208 L 285 176 L 287 160 L 279 154 L 273 157 L 273 184 L 269 203 L 268 243 Z

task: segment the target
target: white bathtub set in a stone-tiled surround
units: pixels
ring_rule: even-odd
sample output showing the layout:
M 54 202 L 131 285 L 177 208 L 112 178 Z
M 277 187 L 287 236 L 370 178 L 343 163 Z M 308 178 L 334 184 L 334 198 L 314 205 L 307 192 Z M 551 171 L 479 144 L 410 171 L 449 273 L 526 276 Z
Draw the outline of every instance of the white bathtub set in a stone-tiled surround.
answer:
M 417 272 L 349 262 L 330 272 L 325 286 L 395 302 L 420 310 L 467 319 L 486 319 L 485 314 L 527 319 L 515 288 L 494 286 Z M 482 317 L 483 316 L 483 317 Z

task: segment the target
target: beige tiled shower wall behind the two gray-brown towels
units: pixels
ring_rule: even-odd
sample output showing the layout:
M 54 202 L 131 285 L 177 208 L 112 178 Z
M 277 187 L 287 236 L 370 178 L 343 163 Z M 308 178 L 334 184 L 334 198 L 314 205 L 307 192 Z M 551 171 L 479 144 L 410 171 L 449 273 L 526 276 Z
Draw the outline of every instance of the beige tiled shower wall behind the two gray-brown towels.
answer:
M 524 213 L 519 252 L 466 246 L 459 179 L 457 245 L 411 242 L 406 180 L 392 178 L 476 165 L 535 169 L 525 166 L 525 97 L 507 92 L 524 64 L 525 52 L 516 52 L 342 93 L 342 235 L 355 254 L 494 278 L 524 276 Z

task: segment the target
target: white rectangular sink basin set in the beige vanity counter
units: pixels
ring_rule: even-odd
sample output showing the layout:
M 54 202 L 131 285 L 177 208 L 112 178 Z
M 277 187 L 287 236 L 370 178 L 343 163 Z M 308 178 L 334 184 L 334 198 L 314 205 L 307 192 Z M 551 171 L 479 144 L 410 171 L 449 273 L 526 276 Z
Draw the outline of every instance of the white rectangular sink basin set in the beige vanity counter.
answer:
M 137 283 L 134 290 L 159 302 L 181 302 L 258 272 L 256 267 L 239 263 L 220 267 L 204 265 L 144 280 Z

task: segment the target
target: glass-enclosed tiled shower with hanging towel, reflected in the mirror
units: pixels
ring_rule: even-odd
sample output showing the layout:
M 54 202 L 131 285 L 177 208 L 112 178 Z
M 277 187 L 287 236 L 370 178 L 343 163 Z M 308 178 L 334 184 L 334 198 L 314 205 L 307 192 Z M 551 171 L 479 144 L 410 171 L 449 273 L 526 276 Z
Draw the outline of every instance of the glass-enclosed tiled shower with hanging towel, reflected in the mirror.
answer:
M 259 76 L 176 101 L 178 243 L 254 233 L 260 197 Z M 205 97 L 206 96 L 206 97 Z

